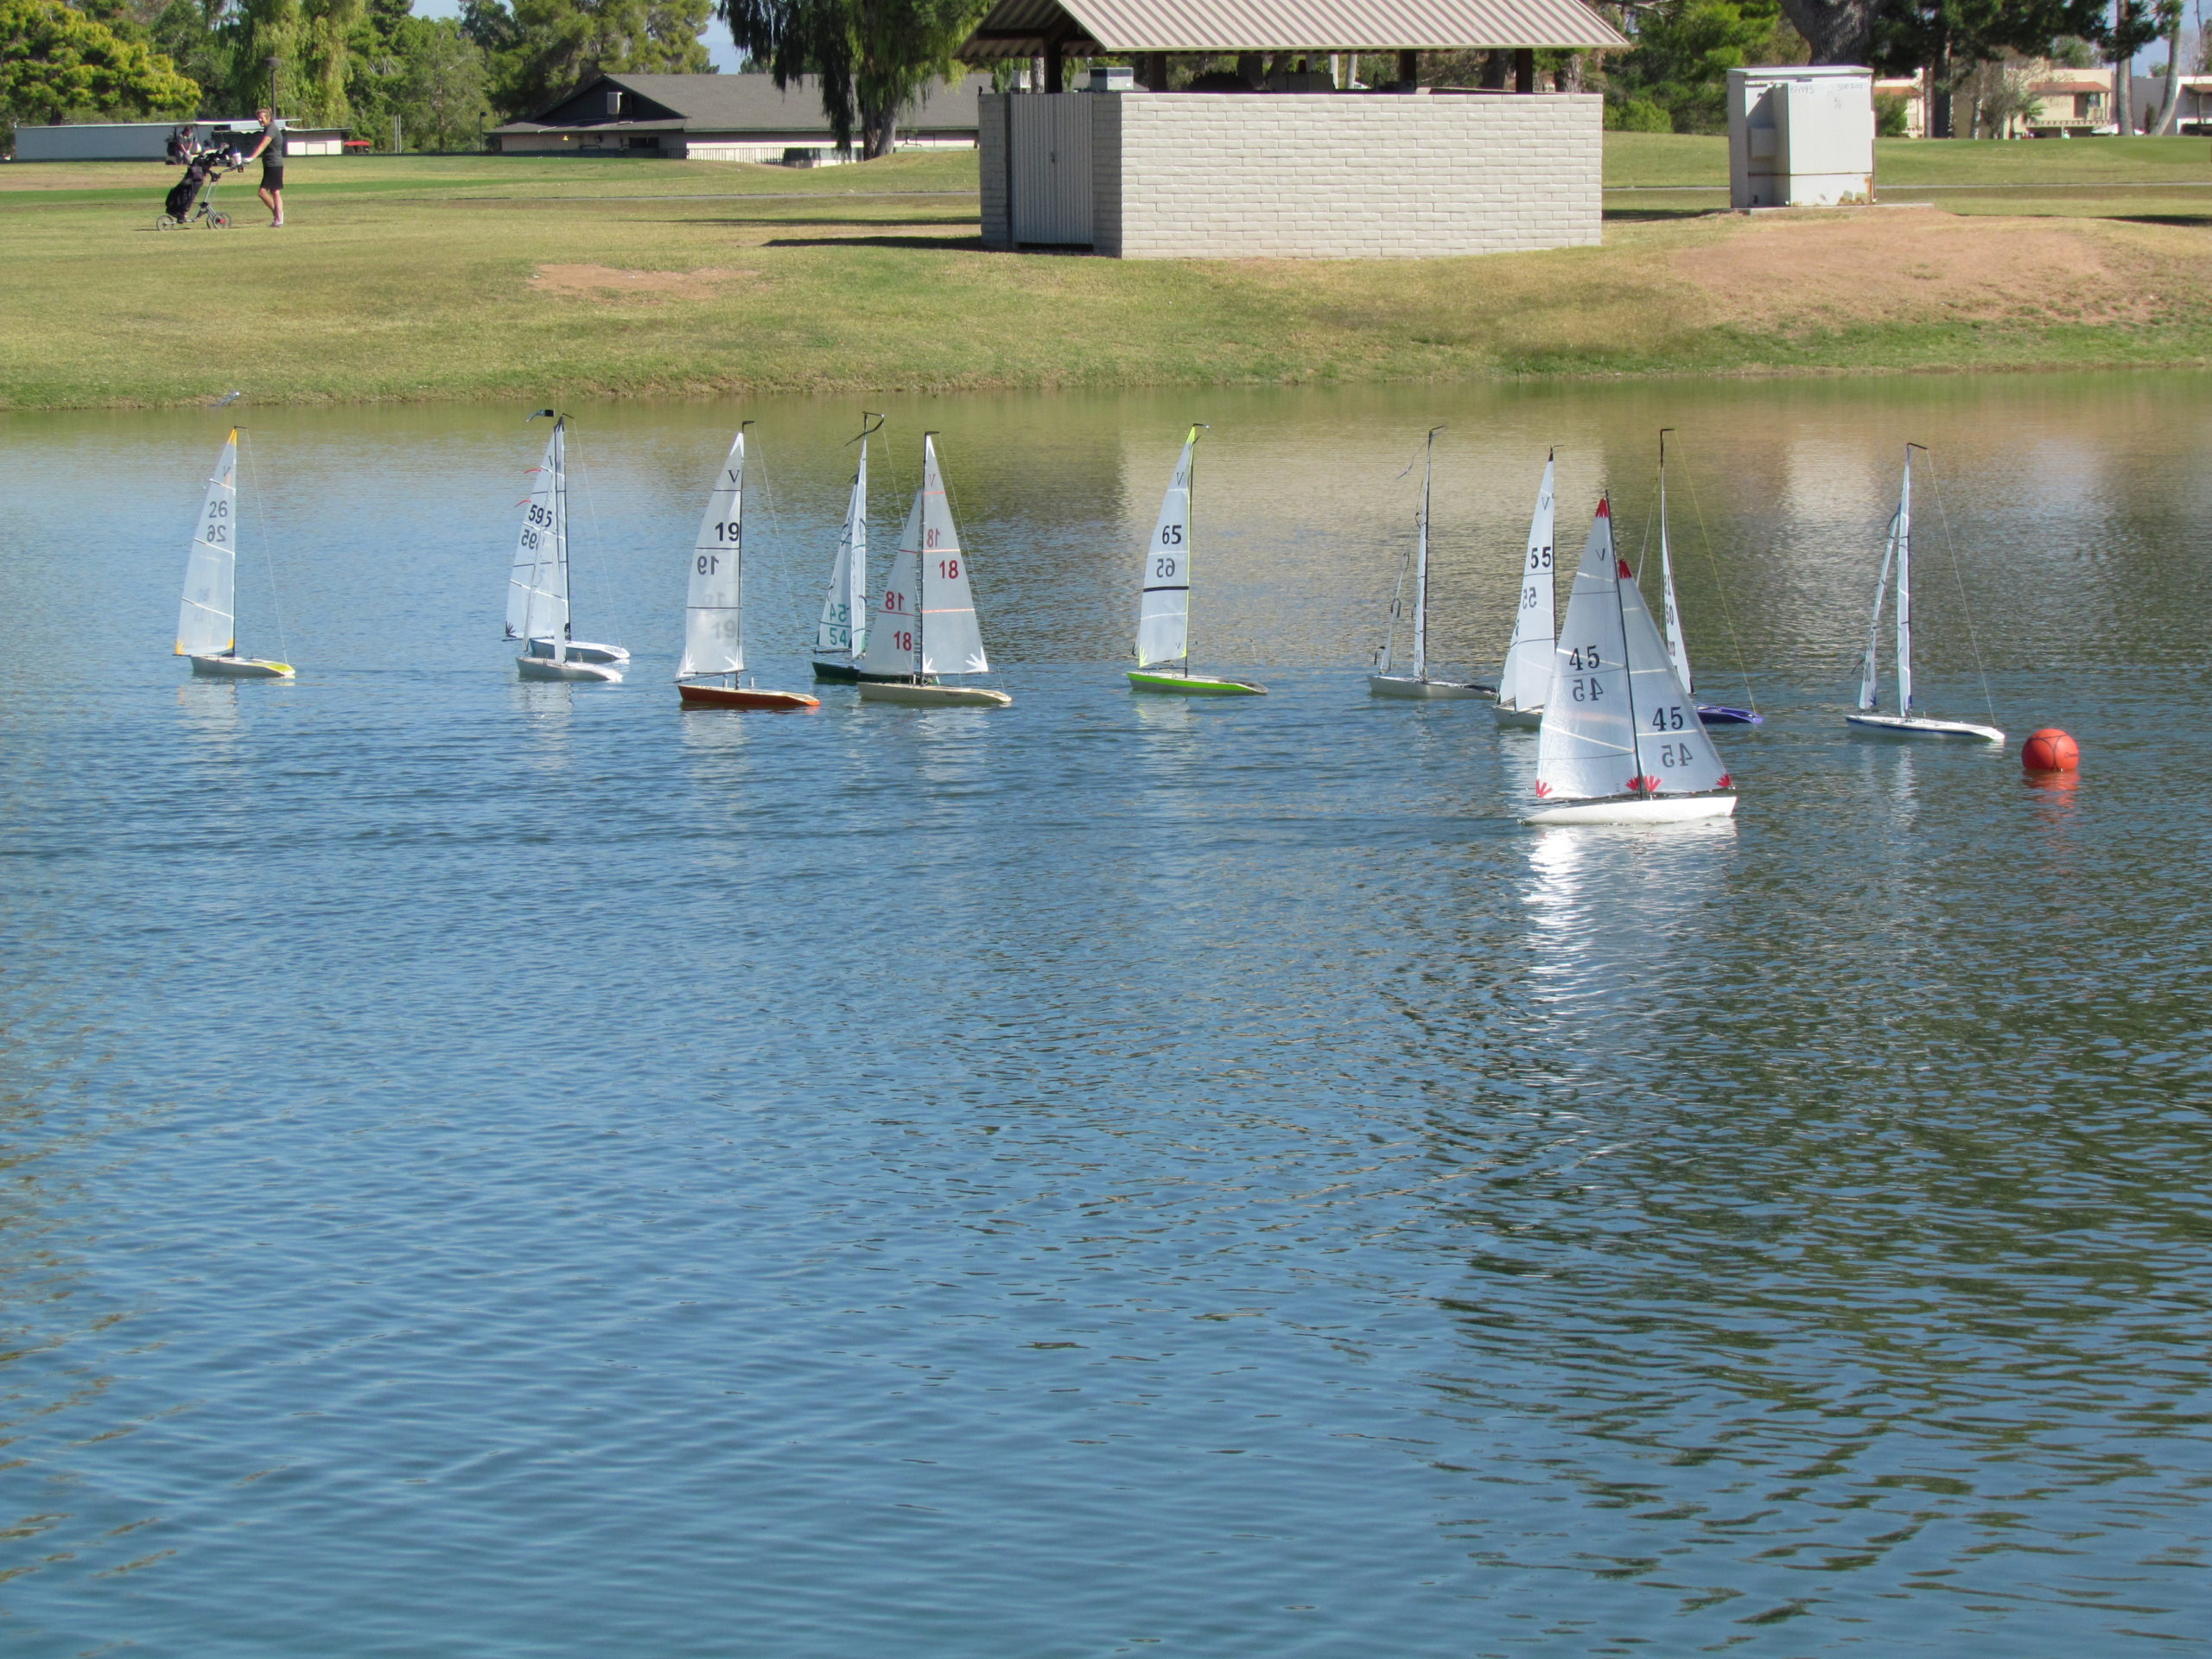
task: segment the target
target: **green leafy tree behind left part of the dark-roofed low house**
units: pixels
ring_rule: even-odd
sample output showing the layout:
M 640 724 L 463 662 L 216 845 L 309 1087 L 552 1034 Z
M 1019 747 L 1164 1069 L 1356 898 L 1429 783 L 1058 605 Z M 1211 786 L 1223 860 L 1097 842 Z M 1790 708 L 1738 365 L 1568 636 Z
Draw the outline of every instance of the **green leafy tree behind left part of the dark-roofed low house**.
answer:
M 529 115 L 593 75 L 708 75 L 712 0 L 467 0 L 460 31 L 491 53 L 493 104 Z

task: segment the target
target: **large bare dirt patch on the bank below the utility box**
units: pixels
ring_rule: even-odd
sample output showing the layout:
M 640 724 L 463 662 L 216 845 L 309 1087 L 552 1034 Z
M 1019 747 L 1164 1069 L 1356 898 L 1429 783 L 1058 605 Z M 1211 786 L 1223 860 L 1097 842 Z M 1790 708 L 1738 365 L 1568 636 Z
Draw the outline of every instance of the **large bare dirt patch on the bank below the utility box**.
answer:
M 1750 327 L 2148 323 L 2168 310 L 2159 296 L 2172 299 L 2170 263 L 2095 219 L 1907 208 L 1759 217 L 1672 263 L 1719 316 Z

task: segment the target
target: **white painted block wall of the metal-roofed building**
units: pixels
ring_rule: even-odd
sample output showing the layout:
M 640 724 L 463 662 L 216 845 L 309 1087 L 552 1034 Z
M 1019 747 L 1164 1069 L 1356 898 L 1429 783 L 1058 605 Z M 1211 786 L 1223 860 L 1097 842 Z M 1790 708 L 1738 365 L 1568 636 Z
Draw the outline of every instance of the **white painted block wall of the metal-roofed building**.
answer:
M 1102 254 L 1422 259 L 1599 241 L 1595 93 L 1095 97 Z

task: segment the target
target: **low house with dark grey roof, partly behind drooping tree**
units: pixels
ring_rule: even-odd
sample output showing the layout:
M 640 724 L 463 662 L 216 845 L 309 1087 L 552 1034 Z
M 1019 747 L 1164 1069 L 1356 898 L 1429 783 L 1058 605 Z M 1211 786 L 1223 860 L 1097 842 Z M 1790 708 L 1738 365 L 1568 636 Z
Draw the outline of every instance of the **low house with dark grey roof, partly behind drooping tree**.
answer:
M 898 117 L 900 150 L 973 148 L 987 75 L 933 82 Z M 836 159 L 821 84 L 774 75 L 595 75 L 526 122 L 489 133 L 500 155 L 661 155 L 690 161 Z

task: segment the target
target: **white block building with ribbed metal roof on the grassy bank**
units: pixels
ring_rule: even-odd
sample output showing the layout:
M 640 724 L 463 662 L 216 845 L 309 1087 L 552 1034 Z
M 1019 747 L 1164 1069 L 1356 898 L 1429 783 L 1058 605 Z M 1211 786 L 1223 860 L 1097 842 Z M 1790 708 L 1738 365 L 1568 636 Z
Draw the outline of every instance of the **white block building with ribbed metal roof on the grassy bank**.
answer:
M 1540 86 L 1535 55 L 1626 44 L 1579 0 L 998 0 L 960 58 L 1035 62 L 1042 91 L 978 100 L 982 239 L 1115 259 L 1590 246 L 1604 102 Z M 1486 51 L 1484 84 L 1420 86 L 1422 51 Z M 1345 53 L 1396 80 L 1349 84 Z M 1135 73 L 1066 91 L 1066 60 L 1097 55 Z M 1194 58 L 1217 64 L 1203 91 L 1170 91 Z

